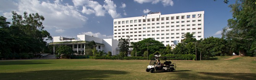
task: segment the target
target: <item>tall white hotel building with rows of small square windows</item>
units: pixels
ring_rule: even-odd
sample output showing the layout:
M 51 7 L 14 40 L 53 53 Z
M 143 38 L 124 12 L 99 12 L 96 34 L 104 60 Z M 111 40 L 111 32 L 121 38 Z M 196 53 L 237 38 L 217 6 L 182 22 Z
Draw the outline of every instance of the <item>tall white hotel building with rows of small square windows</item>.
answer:
M 204 11 L 164 14 L 149 12 L 147 16 L 120 18 L 113 21 L 114 39 L 130 37 L 130 42 L 154 38 L 164 45 L 175 46 L 187 32 L 196 40 L 204 38 Z

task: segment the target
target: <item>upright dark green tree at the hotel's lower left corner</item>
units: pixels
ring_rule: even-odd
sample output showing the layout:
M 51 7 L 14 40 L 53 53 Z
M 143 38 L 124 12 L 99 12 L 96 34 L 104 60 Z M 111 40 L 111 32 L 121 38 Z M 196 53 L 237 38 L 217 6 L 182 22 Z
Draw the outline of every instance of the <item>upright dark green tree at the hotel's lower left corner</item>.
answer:
M 118 43 L 118 48 L 120 49 L 119 50 L 119 52 L 124 52 L 124 53 L 126 53 L 125 55 L 127 56 L 127 52 L 128 52 L 128 50 L 129 50 L 129 48 L 130 48 L 130 38 L 129 37 L 127 37 L 127 39 L 126 38 L 120 38 L 119 40 L 119 43 Z

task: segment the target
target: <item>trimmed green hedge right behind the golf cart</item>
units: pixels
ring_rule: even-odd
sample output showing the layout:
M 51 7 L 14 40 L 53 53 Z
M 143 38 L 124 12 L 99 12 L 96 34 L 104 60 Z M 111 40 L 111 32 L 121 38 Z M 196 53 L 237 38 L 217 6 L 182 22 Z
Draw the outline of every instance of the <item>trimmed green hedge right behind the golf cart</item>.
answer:
M 175 57 L 171 60 L 195 60 L 195 54 L 166 54 L 165 57 Z

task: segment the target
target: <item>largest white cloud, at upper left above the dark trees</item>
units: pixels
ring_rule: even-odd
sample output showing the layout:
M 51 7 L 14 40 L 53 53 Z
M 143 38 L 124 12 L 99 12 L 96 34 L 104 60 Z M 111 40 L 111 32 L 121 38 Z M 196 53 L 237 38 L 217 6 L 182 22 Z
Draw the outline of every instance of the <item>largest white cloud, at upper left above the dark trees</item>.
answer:
M 17 1 L 16 4 L 18 6 L 17 9 L 10 11 L 16 11 L 21 15 L 23 15 L 24 11 L 27 13 L 39 13 L 39 15 L 45 18 L 45 21 L 43 21 L 45 29 L 51 29 L 53 27 L 56 29 L 79 28 L 83 27 L 88 20 L 88 18 L 82 16 L 74 6 L 68 5 L 67 3 L 61 4 L 58 0 L 53 3 L 49 1 L 20 0 Z M 10 11 L 4 13 L 5 16 L 11 14 Z

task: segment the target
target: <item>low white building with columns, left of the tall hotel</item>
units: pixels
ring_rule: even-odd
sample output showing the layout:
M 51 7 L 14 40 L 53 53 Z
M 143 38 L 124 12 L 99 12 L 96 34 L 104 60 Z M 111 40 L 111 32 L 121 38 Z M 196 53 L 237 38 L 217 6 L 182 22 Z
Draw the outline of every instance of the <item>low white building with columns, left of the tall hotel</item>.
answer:
M 74 52 L 77 54 L 85 54 L 85 47 L 91 42 L 94 41 L 96 44 L 96 49 L 98 51 L 104 50 L 106 53 L 111 51 L 112 55 L 118 54 L 118 40 L 112 38 L 101 39 L 89 35 L 77 35 L 77 39 L 74 38 L 65 38 L 65 37 L 53 37 L 53 42 L 49 45 L 66 45 L 73 48 Z M 53 53 L 55 53 L 55 46 L 53 46 Z

